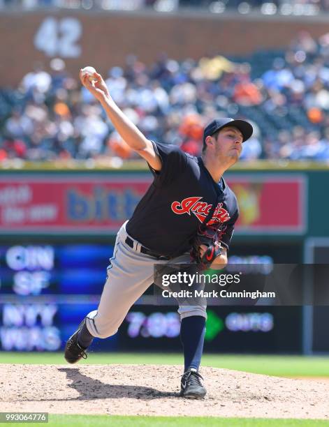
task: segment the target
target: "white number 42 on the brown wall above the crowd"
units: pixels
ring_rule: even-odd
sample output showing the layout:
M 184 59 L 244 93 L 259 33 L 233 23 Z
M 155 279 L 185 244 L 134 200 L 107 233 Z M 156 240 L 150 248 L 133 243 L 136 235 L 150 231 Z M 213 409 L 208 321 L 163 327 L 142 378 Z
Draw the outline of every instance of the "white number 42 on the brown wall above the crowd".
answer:
M 81 34 L 82 25 L 76 18 L 47 17 L 34 36 L 34 46 L 47 57 L 77 58 L 81 54 Z

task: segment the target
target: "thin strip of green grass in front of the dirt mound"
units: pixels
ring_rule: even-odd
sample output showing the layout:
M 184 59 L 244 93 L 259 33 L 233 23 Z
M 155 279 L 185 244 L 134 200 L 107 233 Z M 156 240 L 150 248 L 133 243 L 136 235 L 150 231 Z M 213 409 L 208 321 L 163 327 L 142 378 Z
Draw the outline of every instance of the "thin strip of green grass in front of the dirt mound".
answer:
M 36 424 L 41 426 L 41 424 Z M 317 427 L 328 426 L 329 421 L 315 419 L 265 419 L 265 418 L 217 418 L 217 417 L 120 417 L 106 415 L 50 415 L 50 426 L 70 427 Z

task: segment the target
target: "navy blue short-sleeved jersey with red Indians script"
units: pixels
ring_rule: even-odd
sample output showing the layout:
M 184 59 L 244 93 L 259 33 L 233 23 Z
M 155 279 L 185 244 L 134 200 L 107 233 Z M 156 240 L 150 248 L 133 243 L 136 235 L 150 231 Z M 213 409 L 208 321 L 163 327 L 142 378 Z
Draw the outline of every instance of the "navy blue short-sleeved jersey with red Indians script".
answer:
M 215 183 L 201 158 L 174 145 L 153 143 L 161 158 L 161 171 L 138 203 L 126 225 L 127 232 L 161 255 L 190 250 L 198 224 L 216 204 L 208 224 L 218 225 L 221 242 L 228 248 L 239 215 L 235 194 L 224 179 Z

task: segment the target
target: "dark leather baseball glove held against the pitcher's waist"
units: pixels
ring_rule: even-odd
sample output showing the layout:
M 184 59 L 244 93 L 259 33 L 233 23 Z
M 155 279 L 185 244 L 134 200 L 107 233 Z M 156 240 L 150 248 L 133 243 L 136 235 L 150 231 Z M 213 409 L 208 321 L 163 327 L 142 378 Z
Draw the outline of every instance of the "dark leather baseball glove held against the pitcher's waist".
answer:
M 214 259 L 222 253 L 221 244 L 218 241 L 219 230 L 216 227 L 204 227 L 203 224 L 198 225 L 198 232 L 193 238 L 191 248 L 192 261 L 200 264 L 201 269 L 206 269 L 212 264 Z M 205 245 L 207 249 L 201 256 L 200 246 Z

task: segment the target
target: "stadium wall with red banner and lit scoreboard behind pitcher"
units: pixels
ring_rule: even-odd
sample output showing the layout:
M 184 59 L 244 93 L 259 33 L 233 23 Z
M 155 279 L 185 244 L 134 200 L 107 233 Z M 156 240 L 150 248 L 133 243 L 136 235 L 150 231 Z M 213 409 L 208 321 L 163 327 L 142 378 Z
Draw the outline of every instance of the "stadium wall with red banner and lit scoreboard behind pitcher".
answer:
M 319 220 L 319 200 L 327 218 L 329 174 L 315 166 L 240 166 L 226 174 L 240 202 L 229 253 L 235 263 L 328 264 L 329 226 Z M 145 169 L 1 171 L 0 350 L 63 349 L 85 313 L 96 309 L 114 234 L 150 179 Z M 307 289 L 317 277 L 307 276 Z M 176 307 L 152 305 L 149 292 L 96 351 L 180 350 Z M 327 324 L 323 302 L 210 306 L 205 350 L 328 353 Z

